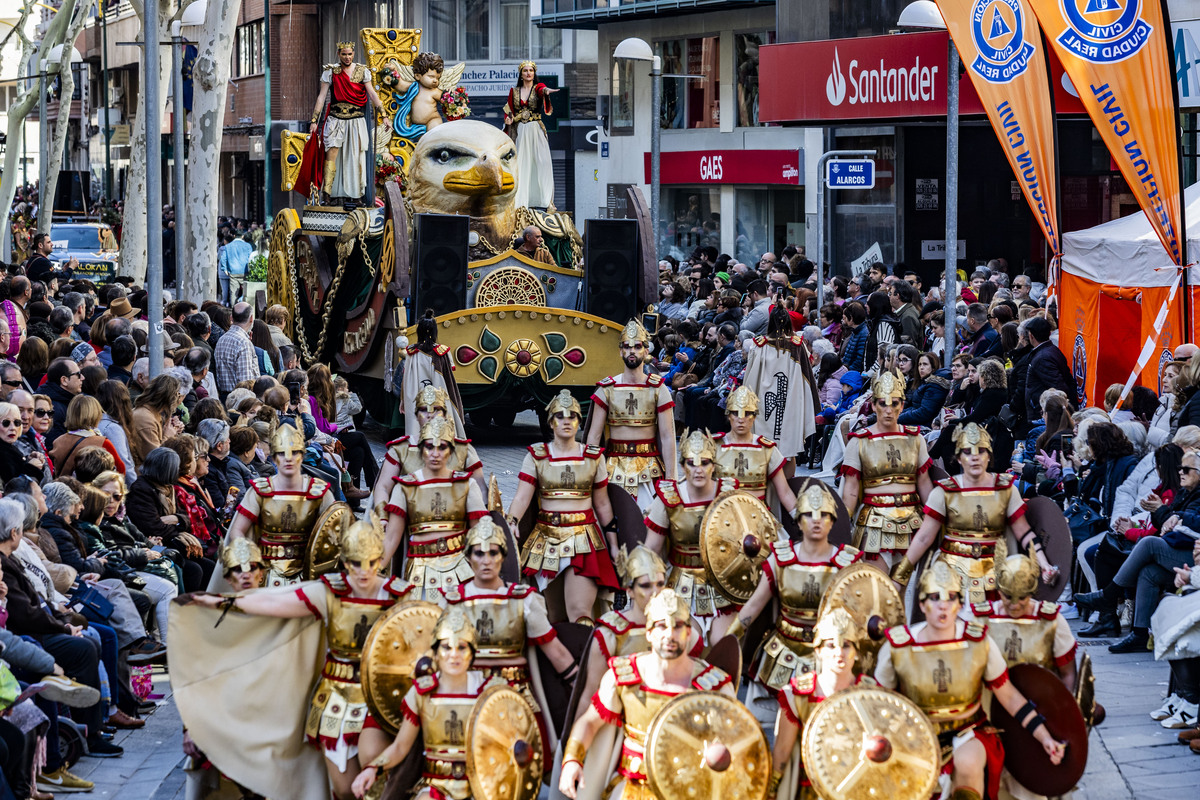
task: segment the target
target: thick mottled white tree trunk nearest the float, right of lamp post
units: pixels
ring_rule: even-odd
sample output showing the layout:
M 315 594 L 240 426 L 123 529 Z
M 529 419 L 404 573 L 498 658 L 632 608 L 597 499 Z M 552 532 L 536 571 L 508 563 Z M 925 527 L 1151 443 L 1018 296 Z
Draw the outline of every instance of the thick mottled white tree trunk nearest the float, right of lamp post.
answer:
M 192 67 L 187 227 L 184 241 L 179 245 L 187 255 L 184 273 L 179 276 L 179 297 L 193 302 L 216 295 L 217 273 L 214 267 L 217 263 L 221 139 L 229 86 L 229 54 L 234 49 L 240 10 L 241 0 L 209 0 L 196 65 Z

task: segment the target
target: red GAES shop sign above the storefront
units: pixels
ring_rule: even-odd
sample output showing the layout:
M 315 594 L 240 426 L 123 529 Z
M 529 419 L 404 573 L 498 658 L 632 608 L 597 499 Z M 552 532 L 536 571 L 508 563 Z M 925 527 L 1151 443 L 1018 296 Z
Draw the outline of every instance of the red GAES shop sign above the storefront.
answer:
M 804 157 L 799 150 L 690 150 L 664 152 L 662 184 L 782 184 L 799 186 Z M 650 154 L 646 154 L 650 182 Z

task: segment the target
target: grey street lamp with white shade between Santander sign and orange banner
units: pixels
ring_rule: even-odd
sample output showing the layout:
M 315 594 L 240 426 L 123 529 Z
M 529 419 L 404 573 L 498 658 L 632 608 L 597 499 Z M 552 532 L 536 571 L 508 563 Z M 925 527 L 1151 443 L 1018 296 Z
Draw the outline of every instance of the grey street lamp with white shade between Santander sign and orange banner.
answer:
M 905 6 L 900 28 L 946 30 L 946 20 L 934 0 L 916 0 Z M 946 357 L 954 356 L 959 272 L 959 52 L 949 41 L 946 68 Z

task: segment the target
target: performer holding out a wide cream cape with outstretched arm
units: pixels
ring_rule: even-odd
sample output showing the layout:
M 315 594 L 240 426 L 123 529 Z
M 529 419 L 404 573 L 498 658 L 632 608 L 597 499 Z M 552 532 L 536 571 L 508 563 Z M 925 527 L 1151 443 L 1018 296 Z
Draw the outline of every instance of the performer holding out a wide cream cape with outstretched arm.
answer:
M 222 597 L 193 595 L 192 602 L 224 612 L 296 619 L 312 615 L 325 628 L 325 663 L 312 692 L 305 735 L 319 742 L 337 800 L 349 800 L 359 771 L 358 739 L 367 716 L 359 678 L 359 658 L 371 625 L 395 602 L 413 594 L 401 578 L 379 575 L 383 530 L 372 511 L 353 523 L 340 539 L 343 571 L 323 575 L 295 591 L 254 591 Z M 265 675 L 269 680 L 270 675 Z M 206 748 L 215 756 L 211 747 Z M 220 766 L 220 762 L 214 763 Z

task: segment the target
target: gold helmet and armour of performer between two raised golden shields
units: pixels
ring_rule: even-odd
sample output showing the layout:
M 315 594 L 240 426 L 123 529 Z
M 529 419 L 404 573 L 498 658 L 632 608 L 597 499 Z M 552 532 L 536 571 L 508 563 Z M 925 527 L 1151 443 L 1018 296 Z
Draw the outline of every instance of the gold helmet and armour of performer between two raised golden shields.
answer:
M 797 515 L 814 512 L 838 516 L 833 497 L 818 486 L 797 499 Z M 816 669 L 814 628 L 821 597 L 838 571 L 860 558 L 858 549 L 839 545 L 828 560 L 805 563 L 800 560 L 797 542 L 785 539 L 772 543 L 770 558 L 763 563 L 763 576 L 779 600 L 779 616 L 762 648 L 756 675 L 760 682 L 779 692 L 797 675 Z

